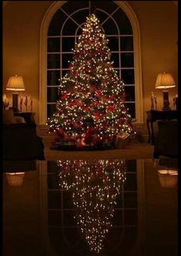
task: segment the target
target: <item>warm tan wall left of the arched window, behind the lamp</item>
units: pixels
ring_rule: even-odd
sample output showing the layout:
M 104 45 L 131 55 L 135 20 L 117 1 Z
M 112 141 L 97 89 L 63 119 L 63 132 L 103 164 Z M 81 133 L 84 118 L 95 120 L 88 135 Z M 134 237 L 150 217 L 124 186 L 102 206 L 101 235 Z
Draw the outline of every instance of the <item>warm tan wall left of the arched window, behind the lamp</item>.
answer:
M 3 8 L 3 93 L 8 77 L 23 76 L 38 122 L 40 26 L 51 1 L 10 1 Z

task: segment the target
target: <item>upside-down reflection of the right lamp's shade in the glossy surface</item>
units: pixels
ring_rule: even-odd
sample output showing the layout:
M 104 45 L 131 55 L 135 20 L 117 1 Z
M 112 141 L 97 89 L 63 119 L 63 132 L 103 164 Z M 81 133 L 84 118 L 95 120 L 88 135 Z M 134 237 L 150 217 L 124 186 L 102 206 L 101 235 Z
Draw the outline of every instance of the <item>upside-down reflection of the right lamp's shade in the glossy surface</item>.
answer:
M 158 170 L 162 187 L 175 187 L 178 183 L 177 170 Z

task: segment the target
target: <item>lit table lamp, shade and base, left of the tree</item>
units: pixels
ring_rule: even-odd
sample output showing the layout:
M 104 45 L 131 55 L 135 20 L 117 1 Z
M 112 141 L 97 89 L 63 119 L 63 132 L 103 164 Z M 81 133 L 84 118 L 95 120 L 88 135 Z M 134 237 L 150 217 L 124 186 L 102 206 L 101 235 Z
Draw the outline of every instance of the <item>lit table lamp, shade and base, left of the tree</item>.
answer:
M 18 111 L 18 91 L 25 91 L 22 76 L 10 76 L 6 89 L 9 91 L 15 91 L 15 93 L 12 93 L 12 107 L 14 111 Z

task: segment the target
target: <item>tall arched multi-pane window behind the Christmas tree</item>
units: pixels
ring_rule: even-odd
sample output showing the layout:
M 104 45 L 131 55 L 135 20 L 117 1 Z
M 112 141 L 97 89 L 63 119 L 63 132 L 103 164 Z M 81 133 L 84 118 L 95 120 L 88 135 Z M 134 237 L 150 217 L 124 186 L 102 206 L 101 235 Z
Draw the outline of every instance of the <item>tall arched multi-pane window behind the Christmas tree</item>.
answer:
M 103 4 L 103 2 L 94 1 L 91 5 L 97 8 L 97 18 L 100 20 L 107 39 L 109 39 L 108 47 L 111 51 L 111 59 L 114 61 L 114 69 L 117 70 L 117 75 L 125 84 L 126 105 L 129 107 L 133 119 L 142 123 L 139 107 L 137 107 L 137 99 L 140 98 L 139 93 L 142 93 L 140 90 L 141 81 L 140 84 L 136 84 L 136 69 L 139 69 L 140 66 L 136 66 L 135 51 L 137 49 L 135 49 L 130 19 L 116 2 L 107 1 Z M 89 1 L 74 1 L 74 5 L 69 1 L 63 5 L 62 2 L 59 2 L 59 6 L 57 2 L 56 6 L 56 10 L 49 15 L 51 16 L 49 23 L 46 22 L 47 47 L 44 48 L 46 49 L 46 57 L 43 59 L 46 59 L 47 65 L 44 65 L 46 79 L 42 79 L 41 76 L 40 103 L 41 111 L 44 112 L 40 113 L 41 123 L 42 121 L 45 123 L 47 118 L 55 112 L 60 79 L 68 70 L 68 62 L 73 59 L 74 43 L 77 41 L 78 35 L 82 33 L 82 27 L 90 10 Z M 44 19 L 46 19 L 46 15 Z M 44 70 L 41 72 L 44 73 Z M 42 83 L 46 86 L 42 86 Z M 136 88 L 137 86 L 139 86 L 139 90 Z M 42 87 L 45 87 L 45 92 Z M 42 96 L 42 93 L 46 93 L 46 95 Z M 45 103 L 46 106 L 43 106 L 42 103 Z

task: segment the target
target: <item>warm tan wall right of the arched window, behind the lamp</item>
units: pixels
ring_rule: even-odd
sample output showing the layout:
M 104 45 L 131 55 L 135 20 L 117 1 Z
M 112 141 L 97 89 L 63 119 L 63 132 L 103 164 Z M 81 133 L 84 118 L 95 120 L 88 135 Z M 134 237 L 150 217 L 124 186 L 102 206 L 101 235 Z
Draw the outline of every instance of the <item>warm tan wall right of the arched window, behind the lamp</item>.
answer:
M 159 72 L 170 72 L 176 81 L 176 87 L 169 89 L 172 109 L 178 90 L 178 8 L 174 2 L 128 1 L 140 23 L 145 118 L 151 91 L 158 99 L 158 109 L 163 106 L 162 89 L 155 89 Z

